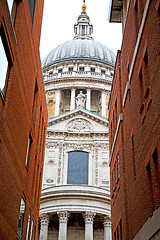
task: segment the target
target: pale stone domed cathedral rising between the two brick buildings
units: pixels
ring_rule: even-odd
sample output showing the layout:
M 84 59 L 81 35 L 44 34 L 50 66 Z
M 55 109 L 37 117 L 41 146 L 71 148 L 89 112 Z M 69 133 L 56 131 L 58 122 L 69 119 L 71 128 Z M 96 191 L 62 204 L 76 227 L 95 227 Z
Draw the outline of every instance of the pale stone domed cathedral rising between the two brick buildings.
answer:
M 88 19 L 82 12 L 75 25 L 74 56 L 67 42 L 43 62 L 49 120 L 40 239 L 111 240 L 107 117 L 114 64 L 112 53 L 95 45 Z M 81 21 L 87 31 L 83 36 Z M 94 48 L 95 58 L 88 57 Z

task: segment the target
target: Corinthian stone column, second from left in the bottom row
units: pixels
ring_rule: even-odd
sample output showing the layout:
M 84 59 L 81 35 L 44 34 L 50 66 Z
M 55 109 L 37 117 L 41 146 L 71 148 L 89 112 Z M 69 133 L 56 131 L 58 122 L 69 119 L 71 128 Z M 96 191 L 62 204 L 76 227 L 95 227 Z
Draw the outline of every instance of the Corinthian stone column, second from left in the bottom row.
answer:
M 67 240 L 67 221 L 69 213 L 67 211 L 57 212 L 59 217 L 59 234 L 58 240 Z

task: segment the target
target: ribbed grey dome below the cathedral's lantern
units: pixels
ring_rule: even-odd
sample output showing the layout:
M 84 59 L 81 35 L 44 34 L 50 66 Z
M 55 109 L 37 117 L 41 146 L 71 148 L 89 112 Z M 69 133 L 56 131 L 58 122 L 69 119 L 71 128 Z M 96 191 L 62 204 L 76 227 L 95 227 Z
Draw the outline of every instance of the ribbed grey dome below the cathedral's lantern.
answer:
M 114 67 L 115 54 L 105 45 L 92 39 L 73 39 L 53 49 L 42 62 L 42 68 L 74 60 L 100 62 Z

